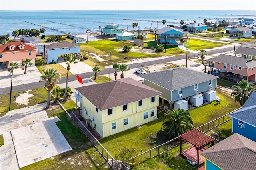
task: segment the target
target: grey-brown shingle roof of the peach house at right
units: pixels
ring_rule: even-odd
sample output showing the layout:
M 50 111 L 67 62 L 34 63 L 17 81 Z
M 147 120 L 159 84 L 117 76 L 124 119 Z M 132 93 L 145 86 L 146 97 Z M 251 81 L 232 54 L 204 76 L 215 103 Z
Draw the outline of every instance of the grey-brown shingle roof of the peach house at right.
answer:
M 231 64 L 234 66 L 240 66 L 243 68 L 252 68 L 256 66 L 256 61 L 251 59 L 246 59 L 243 57 L 236 57 L 232 55 L 226 55 L 226 54 L 220 54 L 217 57 L 208 59 L 210 61 L 220 62 L 220 63 L 226 63 Z

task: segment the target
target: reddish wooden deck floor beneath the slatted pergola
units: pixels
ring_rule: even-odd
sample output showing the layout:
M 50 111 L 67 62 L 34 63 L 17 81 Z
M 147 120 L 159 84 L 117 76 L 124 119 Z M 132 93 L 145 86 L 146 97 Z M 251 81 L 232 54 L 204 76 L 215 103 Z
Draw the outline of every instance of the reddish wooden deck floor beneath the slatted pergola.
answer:
M 204 163 L 204 158 L 200 156 L 200 153 L 203 152 L 204 149 L 199 149 L 199 164 L 197 164 L 197 150 L 196 147 L 192 146 L 188 149 L 185 149 L 181 152 L 181 155 L 184 156 L 185 158 L 189 158 L 193 162 L 196 162 L 196 165 L 201 165 Z

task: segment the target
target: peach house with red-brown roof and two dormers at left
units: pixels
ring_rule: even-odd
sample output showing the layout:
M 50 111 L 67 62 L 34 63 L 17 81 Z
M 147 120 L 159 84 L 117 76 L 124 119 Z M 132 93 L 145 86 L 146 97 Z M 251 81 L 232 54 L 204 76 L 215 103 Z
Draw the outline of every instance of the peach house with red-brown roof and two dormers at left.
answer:
M 22 60 L 32 59 L 33 66 L 36 62 L 36 50 L 33 45 L 22 42 L 11 42 L 0 46 L 0 62 L 8 68 L 10 62 L 17 62 L 20 66 Z

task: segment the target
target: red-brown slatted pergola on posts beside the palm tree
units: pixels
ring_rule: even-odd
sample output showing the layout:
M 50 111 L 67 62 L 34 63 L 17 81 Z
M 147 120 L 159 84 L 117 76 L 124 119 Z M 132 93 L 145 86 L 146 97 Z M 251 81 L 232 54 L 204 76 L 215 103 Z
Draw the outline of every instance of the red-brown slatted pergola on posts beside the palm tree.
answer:
M 188 131 L 180 135 L 180 153 L 182 152 L 182 139 L 184 139 L 185 141 L 189 142 L 194 147 L 196 147 L 197 165 L 199 165 L 199 149 L 202 149 L 209 144 L 214 145 L 214 141 L 215 141 L 213 137 L 210 137 L 206 133 L 198 129 L 193 129 L 191 131 Z

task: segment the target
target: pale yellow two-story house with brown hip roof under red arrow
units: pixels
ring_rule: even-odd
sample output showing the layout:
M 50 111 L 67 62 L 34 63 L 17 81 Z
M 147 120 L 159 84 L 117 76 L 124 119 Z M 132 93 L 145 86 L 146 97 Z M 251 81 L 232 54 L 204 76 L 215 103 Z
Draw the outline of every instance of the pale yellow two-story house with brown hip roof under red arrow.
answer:
M 132 78 L 75 89 L 82 96 L 82 116 L 102 138 L 157 119 L 162 93 Z

